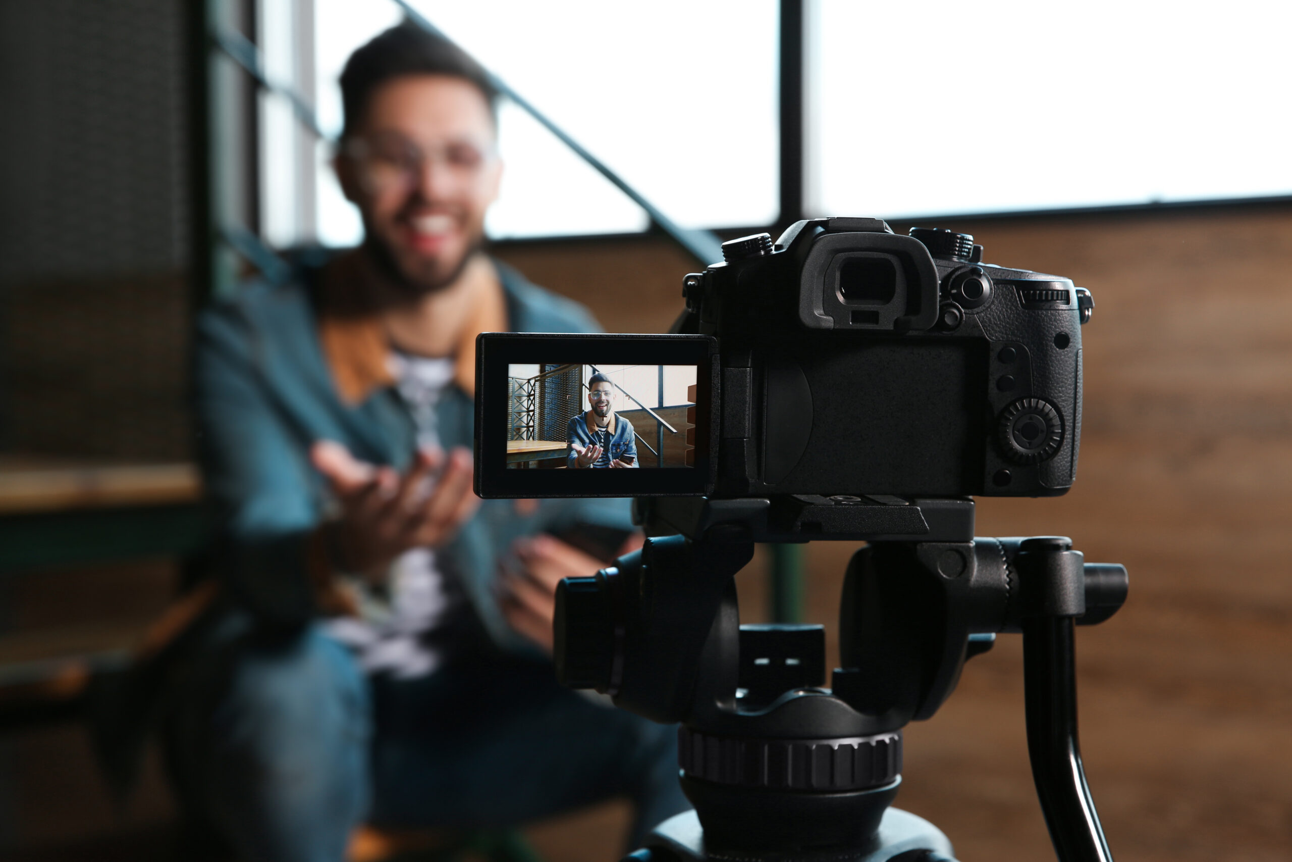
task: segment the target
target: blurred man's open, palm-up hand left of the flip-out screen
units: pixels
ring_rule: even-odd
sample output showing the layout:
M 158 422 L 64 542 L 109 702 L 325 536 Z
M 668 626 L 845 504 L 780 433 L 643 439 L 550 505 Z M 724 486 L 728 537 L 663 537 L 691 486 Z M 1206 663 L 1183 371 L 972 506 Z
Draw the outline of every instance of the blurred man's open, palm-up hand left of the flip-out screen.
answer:
M 332 441 L 310 448 L 310 460 L 341 503 L 335 525 L 341 565 L 373 580 L 412 548 L 438 548 L 475 513 L 472 454 L 457 447 L 419 451 L 408 472 L 360 461 Z

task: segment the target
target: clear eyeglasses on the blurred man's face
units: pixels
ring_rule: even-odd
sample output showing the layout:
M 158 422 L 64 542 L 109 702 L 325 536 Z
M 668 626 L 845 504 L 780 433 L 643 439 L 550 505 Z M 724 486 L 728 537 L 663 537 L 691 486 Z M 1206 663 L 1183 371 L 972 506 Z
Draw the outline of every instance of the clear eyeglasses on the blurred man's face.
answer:
M 425 174 L 428 164 L 441 167 L 459 184 L 473 184 L 497 156 L 492 145 L 450 141 L 422 147 L 399 134 L 351 138 L 344 152 L 359 167 L 364 184 L 373 191 L 411 189 Z

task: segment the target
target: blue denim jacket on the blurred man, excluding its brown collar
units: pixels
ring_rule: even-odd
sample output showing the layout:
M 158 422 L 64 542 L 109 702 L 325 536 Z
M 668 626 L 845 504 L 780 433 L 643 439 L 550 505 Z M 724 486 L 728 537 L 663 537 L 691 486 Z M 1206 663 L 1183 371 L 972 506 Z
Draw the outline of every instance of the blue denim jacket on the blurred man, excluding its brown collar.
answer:
M 599 331 L 583 306 L 496 266 L 513 331 Z M 301 268 L 289 283 L 253 283 L 212 305 L 199 317 L 195 345 L 199 450 L 218 516 L 218 571 L 240 605 L 287 624 L 318 613 L 311 588 L 318 553 L 311 549 L 329 500 L 309 460 L 311 445 L 332 439 L 355 457 L 397 469 L 408 465 L 416 447 L 412 415 L 394 386 L 372 385 L 358 402 L 342 397 L 342 377 L 322 342 L 318 274 Z M 375 349 L 385 350 L 385 342 Z M 444 448 L 472 446 L 475 411 L 460 383 L 441 395 L 437 417 Z M 512 500 L 484 500 L 442 548 L 441 558 L 457 573 L 496 642 L 523 644 L 503 619 L 492 588 L 512 543 L 579 525 L 630 530 L 629 501 L 541 500 L 521 514 Z

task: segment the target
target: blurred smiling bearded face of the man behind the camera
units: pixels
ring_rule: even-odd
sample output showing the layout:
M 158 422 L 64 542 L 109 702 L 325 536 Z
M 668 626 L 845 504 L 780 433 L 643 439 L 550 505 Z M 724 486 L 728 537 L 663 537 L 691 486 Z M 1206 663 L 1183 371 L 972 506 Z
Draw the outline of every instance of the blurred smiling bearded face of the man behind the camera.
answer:
M 370 248 L 416 295 L 453 282 L 484 237 L 503 164 L 484 96 L 469 81 L 381 84 L 336 162 Z

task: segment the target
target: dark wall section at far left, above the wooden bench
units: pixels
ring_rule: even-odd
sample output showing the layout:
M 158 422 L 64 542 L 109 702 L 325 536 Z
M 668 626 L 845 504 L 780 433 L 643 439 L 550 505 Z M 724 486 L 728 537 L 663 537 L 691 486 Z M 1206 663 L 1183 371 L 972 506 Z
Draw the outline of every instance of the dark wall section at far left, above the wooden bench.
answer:
M 0 0 L 0 451 L 189 452 L 182 12 Z

